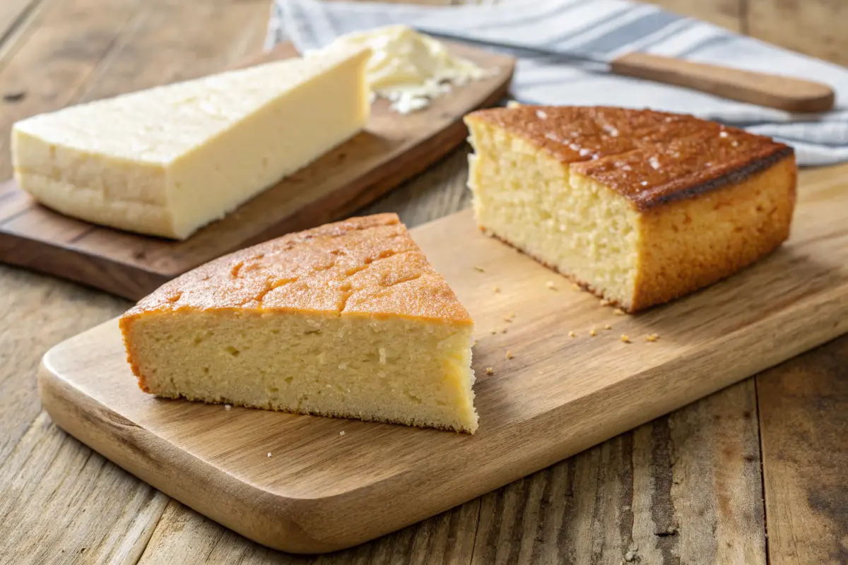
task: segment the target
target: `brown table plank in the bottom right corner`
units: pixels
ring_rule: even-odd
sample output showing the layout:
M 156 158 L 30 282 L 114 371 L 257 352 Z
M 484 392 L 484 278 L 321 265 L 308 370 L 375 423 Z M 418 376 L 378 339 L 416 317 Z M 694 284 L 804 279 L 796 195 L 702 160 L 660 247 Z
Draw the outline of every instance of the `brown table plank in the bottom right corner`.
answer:
M 848 336 L 756 378 L 768 557 L 848 562 Z

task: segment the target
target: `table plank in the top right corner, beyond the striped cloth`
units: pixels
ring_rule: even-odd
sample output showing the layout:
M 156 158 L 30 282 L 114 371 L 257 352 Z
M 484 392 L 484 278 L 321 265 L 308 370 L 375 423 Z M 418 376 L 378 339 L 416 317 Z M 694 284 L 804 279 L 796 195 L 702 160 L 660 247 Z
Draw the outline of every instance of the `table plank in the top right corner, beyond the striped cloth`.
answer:
M 848 3 L 833 0 L 747 0 L 747 33 L 832 63 L 848 65 Z

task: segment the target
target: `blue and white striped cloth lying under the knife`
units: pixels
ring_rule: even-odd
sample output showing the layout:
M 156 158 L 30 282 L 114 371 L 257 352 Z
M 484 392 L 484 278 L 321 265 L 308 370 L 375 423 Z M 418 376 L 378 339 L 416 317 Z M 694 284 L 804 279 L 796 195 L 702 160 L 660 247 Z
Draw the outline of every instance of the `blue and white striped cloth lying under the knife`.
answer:
M 834 87 L 837 109 L 789 114 L 648 80 L 592 72 L 585 65 L 519 58 L 512 95 L 521 102 L 656 108 L 695 114 L 795 147 L 798 162 L 848 161 L 848 69 L 738 36 L 696 19 L 627 0 L 504 0 L 454 7 L 276 0 L 266 47 L 291 41 L 299 50 L 337 36 L 390 24 L 420 25 L 453 35 L 615 58 L 642 51 L 740 69 L 820 80 Z

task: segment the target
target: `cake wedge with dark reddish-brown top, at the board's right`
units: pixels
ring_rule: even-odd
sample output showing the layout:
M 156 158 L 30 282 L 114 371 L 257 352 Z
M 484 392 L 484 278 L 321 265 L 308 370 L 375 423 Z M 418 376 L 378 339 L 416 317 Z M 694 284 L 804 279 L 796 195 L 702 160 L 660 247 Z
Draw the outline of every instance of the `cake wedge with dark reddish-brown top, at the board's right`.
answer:
M 789 236 L 791 147 L 688 115 L 517 106 L 466 116 L 481 229 L 636 312 Z

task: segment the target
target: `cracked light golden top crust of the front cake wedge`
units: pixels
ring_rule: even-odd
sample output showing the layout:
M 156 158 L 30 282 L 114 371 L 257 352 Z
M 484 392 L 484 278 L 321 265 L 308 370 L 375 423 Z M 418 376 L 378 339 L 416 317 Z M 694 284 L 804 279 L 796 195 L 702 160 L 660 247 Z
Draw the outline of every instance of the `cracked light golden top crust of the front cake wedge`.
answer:
M 465 307 L 393 213 L 322 225 L 215 259 L 142 298 L 121 325 L 126 328 L 144 313 L 182 308 L 471 324 Z

